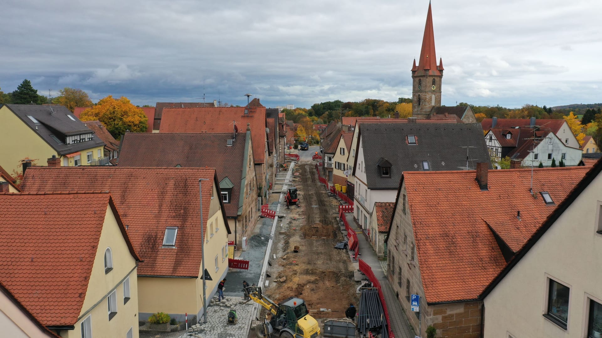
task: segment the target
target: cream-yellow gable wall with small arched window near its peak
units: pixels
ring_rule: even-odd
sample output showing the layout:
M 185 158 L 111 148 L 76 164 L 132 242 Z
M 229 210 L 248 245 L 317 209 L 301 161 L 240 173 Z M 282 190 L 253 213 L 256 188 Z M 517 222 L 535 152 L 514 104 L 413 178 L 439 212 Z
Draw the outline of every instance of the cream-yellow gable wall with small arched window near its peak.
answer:
M 104 255 L 111 248 L 113 270 L 105 274 Z M 128 303 L 123 304 L 123 283 L 129 276 Z M 117 291 L 117 315 L 108 319 L 108 295 Z M 107 208 L 105 223 L 102 227 L 98 251 L 94 259 L 90 282 L 85 294 L 79 320 L 75 330 L 61 331 L 61 337 L 81 338 L 81 322 L 88 316 L 92 319 L 92 336 L 95 338 L 125 337 L 132 328 L 133 337 L 138 337 L 138 283 L 134 257 L 117 225 L 110 207 Z

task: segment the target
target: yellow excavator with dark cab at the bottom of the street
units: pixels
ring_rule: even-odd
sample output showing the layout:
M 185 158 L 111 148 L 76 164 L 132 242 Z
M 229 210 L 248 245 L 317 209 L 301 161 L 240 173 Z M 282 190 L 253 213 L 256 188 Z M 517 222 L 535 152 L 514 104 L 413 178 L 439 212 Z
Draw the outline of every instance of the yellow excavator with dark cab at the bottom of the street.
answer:
M 261 293 L 259 286 L 247 286 L 246 291 L 251 300 L 272 313 L 267 325 L 259 325 L 259 337 L 270 337 L 276 333 L 281 338 L 316 338 L 320 334 L 318 321 L 309 315 L 302 299 L 290 297 L 276 304 Z

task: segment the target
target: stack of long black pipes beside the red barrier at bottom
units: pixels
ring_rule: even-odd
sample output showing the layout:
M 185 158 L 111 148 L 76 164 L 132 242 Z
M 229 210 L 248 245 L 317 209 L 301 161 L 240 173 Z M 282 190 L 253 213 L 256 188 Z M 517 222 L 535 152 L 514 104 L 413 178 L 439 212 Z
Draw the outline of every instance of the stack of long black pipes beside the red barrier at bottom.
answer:
M 382 304 L 378 296 L 378 290 L 365 288 L 361 290 L 358 309 L 358 330 L 363 335 L 368 336 L 368 331 L 373 335 L 379 334 L 379 337 L 388 338 L 386 328 L 385 314 L 382 310 Z

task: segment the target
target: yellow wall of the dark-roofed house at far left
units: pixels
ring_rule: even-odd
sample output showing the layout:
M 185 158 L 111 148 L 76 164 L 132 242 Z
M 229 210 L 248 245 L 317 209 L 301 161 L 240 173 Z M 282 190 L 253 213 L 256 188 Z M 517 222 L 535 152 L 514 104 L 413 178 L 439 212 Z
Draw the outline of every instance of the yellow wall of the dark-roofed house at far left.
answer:
M 0 166 L 10 174 L 13 173 L 13 170 L 20 171 L 20 161 L 23 158 L 35 159 L 36 165 L 46 165 L 47 159 L 52 155 L 60 157 L 61 165 L 63 165 L 65 158 L 65 156 L 60 156 L 57 150 L 46 143 L 7 106 L 0 108 L 0 144 L 11 145 L 0 149 Z M 82 150 L 81 165 L 88 165 L 87 152 L 92 151 L 92 157 L 98 159 L 98 149 L 101 149 L 102 155 L 104 146 Z M 69 158 L 69 167 L 72 166 L 73 158 Z

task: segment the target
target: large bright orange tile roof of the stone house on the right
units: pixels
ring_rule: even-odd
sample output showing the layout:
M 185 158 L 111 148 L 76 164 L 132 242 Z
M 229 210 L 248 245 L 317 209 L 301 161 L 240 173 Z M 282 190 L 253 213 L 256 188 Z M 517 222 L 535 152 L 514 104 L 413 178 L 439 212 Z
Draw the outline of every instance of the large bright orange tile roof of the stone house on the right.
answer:
M 479 189 L 474 170 L 406 171 L 403 183 L 427 302 L 478 298 L 506 266 L 494 232 L 517 252 L 554 210 L 539 192 L 549 192 L 558 204 L 590 168 L 535 169 L 534 195 L 531 169 L 489 170 L 488 191 Z

